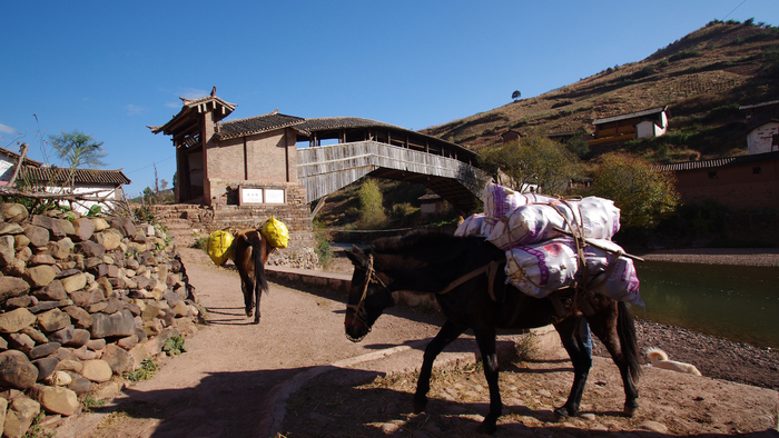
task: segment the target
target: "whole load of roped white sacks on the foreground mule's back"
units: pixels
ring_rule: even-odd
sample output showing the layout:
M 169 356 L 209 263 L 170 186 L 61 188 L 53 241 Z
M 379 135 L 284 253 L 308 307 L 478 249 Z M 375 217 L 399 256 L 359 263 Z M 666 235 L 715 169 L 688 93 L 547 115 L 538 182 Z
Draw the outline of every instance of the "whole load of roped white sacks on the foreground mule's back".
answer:
M 455 236 L 480 236 L 505 251 L 506 281 L 544 298 L 585 288 L 643 306 L 633 260 L 611 238 L 620 209 L 598 197 L 554 198 L 499 185 L 485 189 L 484 212 L 466 218 Z

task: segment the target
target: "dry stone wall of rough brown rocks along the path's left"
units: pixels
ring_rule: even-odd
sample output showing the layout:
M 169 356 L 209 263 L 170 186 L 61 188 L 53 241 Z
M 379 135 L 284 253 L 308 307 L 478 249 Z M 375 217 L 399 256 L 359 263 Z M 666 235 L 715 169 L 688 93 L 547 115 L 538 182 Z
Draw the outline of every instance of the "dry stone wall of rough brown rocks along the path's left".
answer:
M 0 203 L 0 271 L 4 437 L 78 412 L 79 395 L 160 355 L 199 313 L 170 237 L 126 218 Z

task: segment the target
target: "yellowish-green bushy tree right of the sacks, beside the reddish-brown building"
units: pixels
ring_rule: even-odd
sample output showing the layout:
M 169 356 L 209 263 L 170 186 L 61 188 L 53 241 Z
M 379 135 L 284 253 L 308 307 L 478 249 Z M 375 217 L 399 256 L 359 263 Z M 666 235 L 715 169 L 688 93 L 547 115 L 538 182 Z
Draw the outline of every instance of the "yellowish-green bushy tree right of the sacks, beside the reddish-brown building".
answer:
M 624 228 L 653 229 L 680 205 L 673 172 L 654 170 L 649 161 L 627 153 L 601 157 L 592 195 L 614 201 Z

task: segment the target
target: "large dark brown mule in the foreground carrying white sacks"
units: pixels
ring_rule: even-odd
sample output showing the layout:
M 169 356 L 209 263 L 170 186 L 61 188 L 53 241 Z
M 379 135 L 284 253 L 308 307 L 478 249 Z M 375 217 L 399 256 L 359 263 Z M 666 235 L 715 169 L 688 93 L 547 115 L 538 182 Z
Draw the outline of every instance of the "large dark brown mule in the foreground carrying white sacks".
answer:
M 473 329 L 484 360 L 490 386 L 490 412 L 479 430 L 492 434 L 503 408 L 497 388 L 495 329 L 525 329 L 550 323 L 560 334 L 573 364 L 573 385 L 568 401 L 554 411 L 560 417 L 579 411 L 592 358 L 578 336 L 581 313 L 569 309 L 561 316 L 552 300 L 526 296 L 505 285 L 505 253 L 477 237 L 412 232 L 402 238 L 379 239 L 365 251 L 347 251 L 354 263 L 346 309 L 346 336 L 357 342 L 369 331 L 382 311 L 394 301 L 392 292 L 410 290 L 436 293 L 446 322 L 425 348 L 414 395 L 414 411 L 427 406 L 430 377 L 435 357 L 466 329 Z M 497 267 L 497 269 L 494 269 Z M 494 297 L 494 298 L 493 298 Z M 572 301 L 573 298 L 563 298 Z M 634 384 L 640 375 L 635 327 L 625 302 L 581 291 L 580 308 L 592 332 L 603 341 L 622 375 L 624 412 L 632 416 L 638 404 Z

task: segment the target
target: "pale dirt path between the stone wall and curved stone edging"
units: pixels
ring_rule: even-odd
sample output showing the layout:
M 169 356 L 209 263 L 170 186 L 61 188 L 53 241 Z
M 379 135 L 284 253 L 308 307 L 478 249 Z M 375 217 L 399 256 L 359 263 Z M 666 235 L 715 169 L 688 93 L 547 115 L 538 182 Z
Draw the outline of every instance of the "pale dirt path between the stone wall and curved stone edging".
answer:
M 126 388 L 103 412 L 69 421 L 58 437 L 82 437 L 86 429 L 96 438 L 264 437 L 275 396 L 295 375 L 437 331 L 420 315 L 388 315 L 369 342 L 353 344 L 343 332 L 343 302 L 275 283 L 263 297 L 260 323 L 250 325 L 236 272 L 199 250 L 183 249 L 181 257 L 208 325 L 154 379 Z

